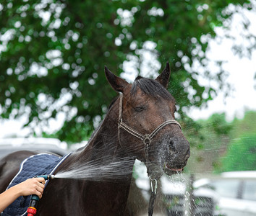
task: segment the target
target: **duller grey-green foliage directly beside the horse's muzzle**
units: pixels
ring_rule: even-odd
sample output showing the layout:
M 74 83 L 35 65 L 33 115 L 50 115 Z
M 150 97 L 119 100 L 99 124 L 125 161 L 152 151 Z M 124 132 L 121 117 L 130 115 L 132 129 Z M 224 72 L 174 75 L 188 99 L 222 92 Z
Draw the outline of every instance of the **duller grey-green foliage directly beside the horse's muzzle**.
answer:
M 200 130 L 197 134 L 187 137 L 193 140 L 192 155 L 188 168 L 191 172 L 209 172 L 219 166 L 220 155 L 229 145 L 231 131 L 234 125 L 226 122 L 225 114 L 213 114 L 208 120 L 198 120 Z

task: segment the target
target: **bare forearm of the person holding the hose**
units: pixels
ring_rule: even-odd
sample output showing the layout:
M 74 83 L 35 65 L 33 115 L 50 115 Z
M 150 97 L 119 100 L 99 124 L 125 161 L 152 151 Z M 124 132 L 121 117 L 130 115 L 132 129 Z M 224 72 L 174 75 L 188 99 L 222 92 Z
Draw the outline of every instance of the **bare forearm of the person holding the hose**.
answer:
M 20 191 L 17 186 L 12 186 L 7 191 L 0 194 L 0 212 L 4 211 L 9 204 L 12 204 L 15 199 L 20 197 Z

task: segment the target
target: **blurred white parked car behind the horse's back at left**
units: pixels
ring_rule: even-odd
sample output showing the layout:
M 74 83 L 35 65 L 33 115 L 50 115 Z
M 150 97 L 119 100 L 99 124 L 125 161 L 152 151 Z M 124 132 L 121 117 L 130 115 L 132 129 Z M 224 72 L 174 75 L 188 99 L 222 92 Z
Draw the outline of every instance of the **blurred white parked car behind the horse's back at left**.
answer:
M 64 156 L 67 143 L 54 138 L 3 138 L 0 139 L 0 158 L 18 150 L 40 150 Z

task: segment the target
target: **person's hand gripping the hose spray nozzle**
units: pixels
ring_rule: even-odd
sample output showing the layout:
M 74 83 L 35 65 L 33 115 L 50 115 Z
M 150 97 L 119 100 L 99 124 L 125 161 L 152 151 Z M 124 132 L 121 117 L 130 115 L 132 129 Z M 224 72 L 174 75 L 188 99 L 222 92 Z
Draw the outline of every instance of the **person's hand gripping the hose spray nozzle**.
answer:
M 37 195 L 39 198 L 42 197 L 44 184 L 46 180 L 44 178 L 33 178 L 27 179 L 20 184 L 17 184 L 17 190 L 20 196 L 28 196 L 31 194 Z

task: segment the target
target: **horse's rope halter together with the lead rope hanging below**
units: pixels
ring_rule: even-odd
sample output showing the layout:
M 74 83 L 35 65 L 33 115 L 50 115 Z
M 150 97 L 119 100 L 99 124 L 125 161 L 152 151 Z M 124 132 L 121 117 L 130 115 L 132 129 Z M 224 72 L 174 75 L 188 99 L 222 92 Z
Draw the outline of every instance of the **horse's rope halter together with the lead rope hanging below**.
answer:
M 142 135 L 140 132 L 137 132 L 136 130 L 133 130 L 132 127 L 129 127 L 128 125 L 126 125 L 123 122 L 122 112 L 123 112 L 123 94 L 120 93 L 119 127 L 118 127 L 119 128 L 118 129 L 119 144 L 121 145 L 121 142 L 120 142 L 120 128 L 123 128 L 124 130 L 129 132 L 129 134 L 134 135 L 136 138 L 139 138 L 140 140 L 142 140 L 142 142 L 145 145 L 144 149 L 145 149 L 146 165 L 149 165 L 149 162 L 148 162 L 148 148 L 149 148 L 149 145 L 151 143 L 151 140 L 153 139 L 153 137 L 156 135 L 156 133 L 159 130 L 161 130 L 166 125 L 171 125 L 171 124 L 178 125 L 179 128 L 182 130 L 182 126 L 179 125 L 179 122 L 177 122 L 175 120 L 167 120 L 166 122 L 163 122 L 161 125 L 156 127 L 155 130 L 153 130 L 153 132 L 151 132 L 150 134 Z M 149 203 L 149 207 L 148 207 L 148 215 L 151 216 L 151 215 L 153 215 L 153 207 L 154 207 L 154 202 L 155 202 L 155 197 L 156 197 L 156 189 L 157 189 L 158 181 L 157 181 L 157 179 L 152 179 L 150 174 L 148 174 L 148 177 L 149 177 L 150 183 L 151 183 L 151 194 L 150 194 L 150 203 Z

